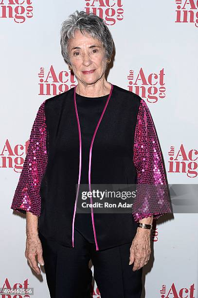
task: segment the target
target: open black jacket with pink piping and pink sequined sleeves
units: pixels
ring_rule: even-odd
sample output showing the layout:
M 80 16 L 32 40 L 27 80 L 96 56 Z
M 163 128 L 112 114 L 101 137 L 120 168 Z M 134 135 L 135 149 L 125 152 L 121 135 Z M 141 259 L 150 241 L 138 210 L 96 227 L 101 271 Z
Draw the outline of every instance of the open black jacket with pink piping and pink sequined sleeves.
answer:
M 36 115 L 12 209 L 38 216 L 48 239 L 73 247 L 76 185 L 80 184 L 81 143 L 75 88 L 45 100 Z M 112 85 L 90 148 L 91 184 L 165 184 L 162 157 L 146 103 Z M 92 213 L 96 249 L 131 242 L 137 222 L 170 212 L 164 195 L 156 211 L 142 201 L 140 212 Z

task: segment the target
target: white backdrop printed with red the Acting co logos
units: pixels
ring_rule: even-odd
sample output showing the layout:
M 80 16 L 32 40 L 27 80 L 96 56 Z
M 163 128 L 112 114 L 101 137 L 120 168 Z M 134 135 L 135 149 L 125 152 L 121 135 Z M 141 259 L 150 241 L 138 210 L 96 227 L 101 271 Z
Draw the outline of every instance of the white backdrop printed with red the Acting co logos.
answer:
M 60 51 L 61 23 L 76 9 L 90 9 L 106 21 L 116 47 L 107 80 L 135 93 L 139 87 L 156 126 L 169 184 L 198 182 L 197 1 L 0 0 L 0 287 L 27 280 L 35 298 L 50 297 L 45 272 L 37 277 L 29 267 L 25 217 L 10 206 L 38 107 L 77 84 Z M 68 74 L 66 83 L 61 72 Z M 164 216 L 152 234 L 142 298 L 198 297 L 197 214 Z M 100 298 L 96 283 L 93 297 Z

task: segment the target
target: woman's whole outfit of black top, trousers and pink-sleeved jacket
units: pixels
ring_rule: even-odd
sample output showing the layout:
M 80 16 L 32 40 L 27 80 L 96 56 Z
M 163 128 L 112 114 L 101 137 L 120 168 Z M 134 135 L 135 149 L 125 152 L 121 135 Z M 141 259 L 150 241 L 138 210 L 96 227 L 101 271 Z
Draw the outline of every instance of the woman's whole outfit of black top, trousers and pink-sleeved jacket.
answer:
M 128 265 L 130 244 L 140 219 L 171 212 L 167 193 L 140 196 L 131 213 L 76 212 L 76 185 L 136 183 L 166 184 L 154 124 L 140 96 L 116 85 L 95 98 L 72 88 L 41 104 L 11 208 L 38 216 L 51 297 L 90 297 L 90 257 L 102 298 L 141 296 L 142 268 L 133 272 Z M 82 262 L 69 268 L 69 286 L 64 266 L 72 266 L 74 254 Z

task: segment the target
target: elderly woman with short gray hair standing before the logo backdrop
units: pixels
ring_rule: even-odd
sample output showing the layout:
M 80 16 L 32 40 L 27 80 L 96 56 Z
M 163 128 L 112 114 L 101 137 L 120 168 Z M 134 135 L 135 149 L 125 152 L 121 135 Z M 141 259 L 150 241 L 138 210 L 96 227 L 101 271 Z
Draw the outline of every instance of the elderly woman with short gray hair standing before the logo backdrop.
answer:
M 53 298 L 90 297 L 90 260 L 102 298 L 140 298 L 153 217 L 170 212 L 166 193 L 139 192 L 128 213 L 76 209 L 81 184 L 165 184 L 153 121 L 140 96 L 105 78 L 113 40 L 103 19 L 73 13 L 61 49 L 78 84 L 36 114 L 11 205 L 26 213 L 25 257 L 37 274 L 44 265 Z

